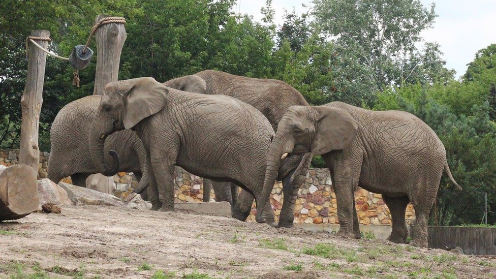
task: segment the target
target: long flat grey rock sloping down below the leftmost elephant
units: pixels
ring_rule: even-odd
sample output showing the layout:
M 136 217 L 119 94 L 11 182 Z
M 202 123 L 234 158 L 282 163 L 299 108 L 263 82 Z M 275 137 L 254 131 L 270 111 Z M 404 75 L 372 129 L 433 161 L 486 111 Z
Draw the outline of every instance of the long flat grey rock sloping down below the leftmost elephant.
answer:
M 58 185 L 66 190 L 69 199 L 74 205 L 110 205 L 127 207 L 119 198 L 111 194 L 101 193 L 64 182 L 60 182 Z

